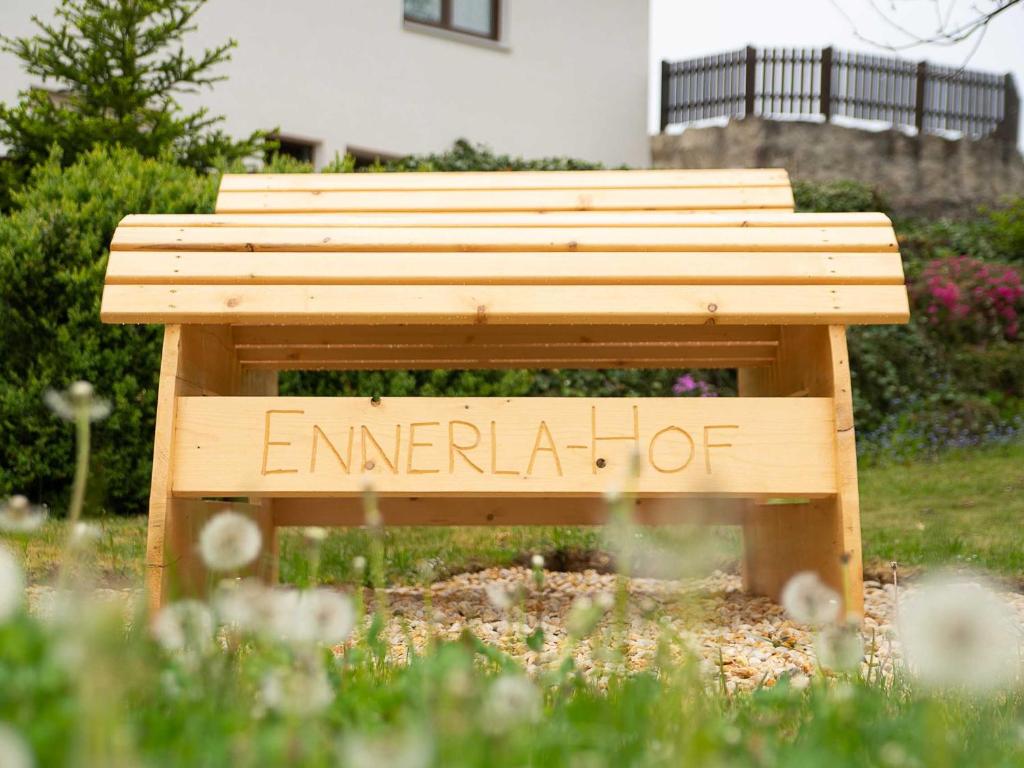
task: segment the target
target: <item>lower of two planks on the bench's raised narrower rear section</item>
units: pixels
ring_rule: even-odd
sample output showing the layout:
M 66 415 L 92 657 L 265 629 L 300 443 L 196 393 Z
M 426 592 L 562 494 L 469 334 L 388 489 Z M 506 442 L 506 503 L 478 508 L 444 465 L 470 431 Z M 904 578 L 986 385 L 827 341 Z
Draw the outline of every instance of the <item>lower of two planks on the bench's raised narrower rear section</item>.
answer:
M 787 186 L 625 189 L 413 189 L 224 191 L 217 213 L 332 211 L 607 211 L 793 210 Z

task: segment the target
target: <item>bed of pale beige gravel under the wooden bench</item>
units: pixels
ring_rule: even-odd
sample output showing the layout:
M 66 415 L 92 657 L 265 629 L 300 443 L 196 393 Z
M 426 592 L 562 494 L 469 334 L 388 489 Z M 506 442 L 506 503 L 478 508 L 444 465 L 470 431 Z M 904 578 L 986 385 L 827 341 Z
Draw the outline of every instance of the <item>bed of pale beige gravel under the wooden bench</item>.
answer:
M 469 630 L 516 656 L 532 672 L 553 668 L 571 652 L 577 664 L 602 683 L 611 672 L 605 649 L 621 642 L 611 611 L 580 643 L 569 641 L 566 618 L 581 596 L 607 601 L 615 590 L 615 579 L 593 570 L 547 571 L 539 587 L 528 568 L 488 568 L 461 573 L 429 588 L 389 589 L 392 657 L 400 663 L 410 647 L 420 652 L 432 638 L 456 639 Z M 494 592 L 495 585 L 518 592 L 509 607 L 500 609 L 488 598 L 488 586 Z M 632 579 L 628 591 L 630 671 L 654 664 L 659 645 L 663 653 L 675 659 L 693 653 L 700 659 L 703 674 L 718 678 L 730 691 L 770 687 L 783 676 L 810 675 L 815 670 L 814 632 L 788 620 L 771 600 L 744 594 L 738 575 L 715 572 L 685 582 Z M 48 613 L 53 596 L 52 588 L 30 587 L 30 608 Z M 97 590 L 97 596 L 126 603 L 141 597 L 138 590 L 116 589 Z M 1024 596 L 1004 596 L 1024 621 Z M 883 675 L 891 674 L 894 660 L 899 658 L 892 631 L 894 606 L 892 585 L 864 583 L 862 633 L 867 653 Z M 543 647 L 530 650 L 525 638 L 538 627 L 544 630 Z

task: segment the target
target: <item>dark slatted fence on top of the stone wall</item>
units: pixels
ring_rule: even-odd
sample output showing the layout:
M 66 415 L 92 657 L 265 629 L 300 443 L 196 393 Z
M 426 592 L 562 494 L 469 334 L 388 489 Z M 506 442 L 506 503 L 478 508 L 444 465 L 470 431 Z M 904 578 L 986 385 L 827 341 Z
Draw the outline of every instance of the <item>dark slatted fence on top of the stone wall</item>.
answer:
M 836 116 L 1017 141 L 1012 75 L 834 48 L 742 48 L 662 62 L 662 130 L 710 118 Z

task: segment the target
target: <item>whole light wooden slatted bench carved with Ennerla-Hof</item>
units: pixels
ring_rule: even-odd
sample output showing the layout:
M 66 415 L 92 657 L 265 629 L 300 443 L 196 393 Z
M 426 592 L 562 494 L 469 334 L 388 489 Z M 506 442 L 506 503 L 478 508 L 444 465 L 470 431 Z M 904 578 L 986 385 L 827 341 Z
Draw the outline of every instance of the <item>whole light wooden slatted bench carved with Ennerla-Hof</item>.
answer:
M 845 326 L 903 323 L 882 214 L 798 214 L 778 170 L 226 175 L 128 216 L 102 318 L 166 325 L 147 544 L 159 606 L 227 502 L 275 529 L 743 526 L 748 589 L 860 577 Z M 283 370 L 734 368 L 739 397 L 279 397 Z M 850 608 L 860 610 L 854 590 Z

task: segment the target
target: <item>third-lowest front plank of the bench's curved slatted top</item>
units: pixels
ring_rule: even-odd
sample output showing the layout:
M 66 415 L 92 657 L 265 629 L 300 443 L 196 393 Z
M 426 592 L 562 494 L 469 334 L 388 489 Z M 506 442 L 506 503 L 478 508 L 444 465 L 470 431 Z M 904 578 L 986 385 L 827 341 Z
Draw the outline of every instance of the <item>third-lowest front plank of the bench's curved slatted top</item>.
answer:
M 112 251 L 898 251 L 886 226 L 765 227 L 144 227 L 119 228 Z

